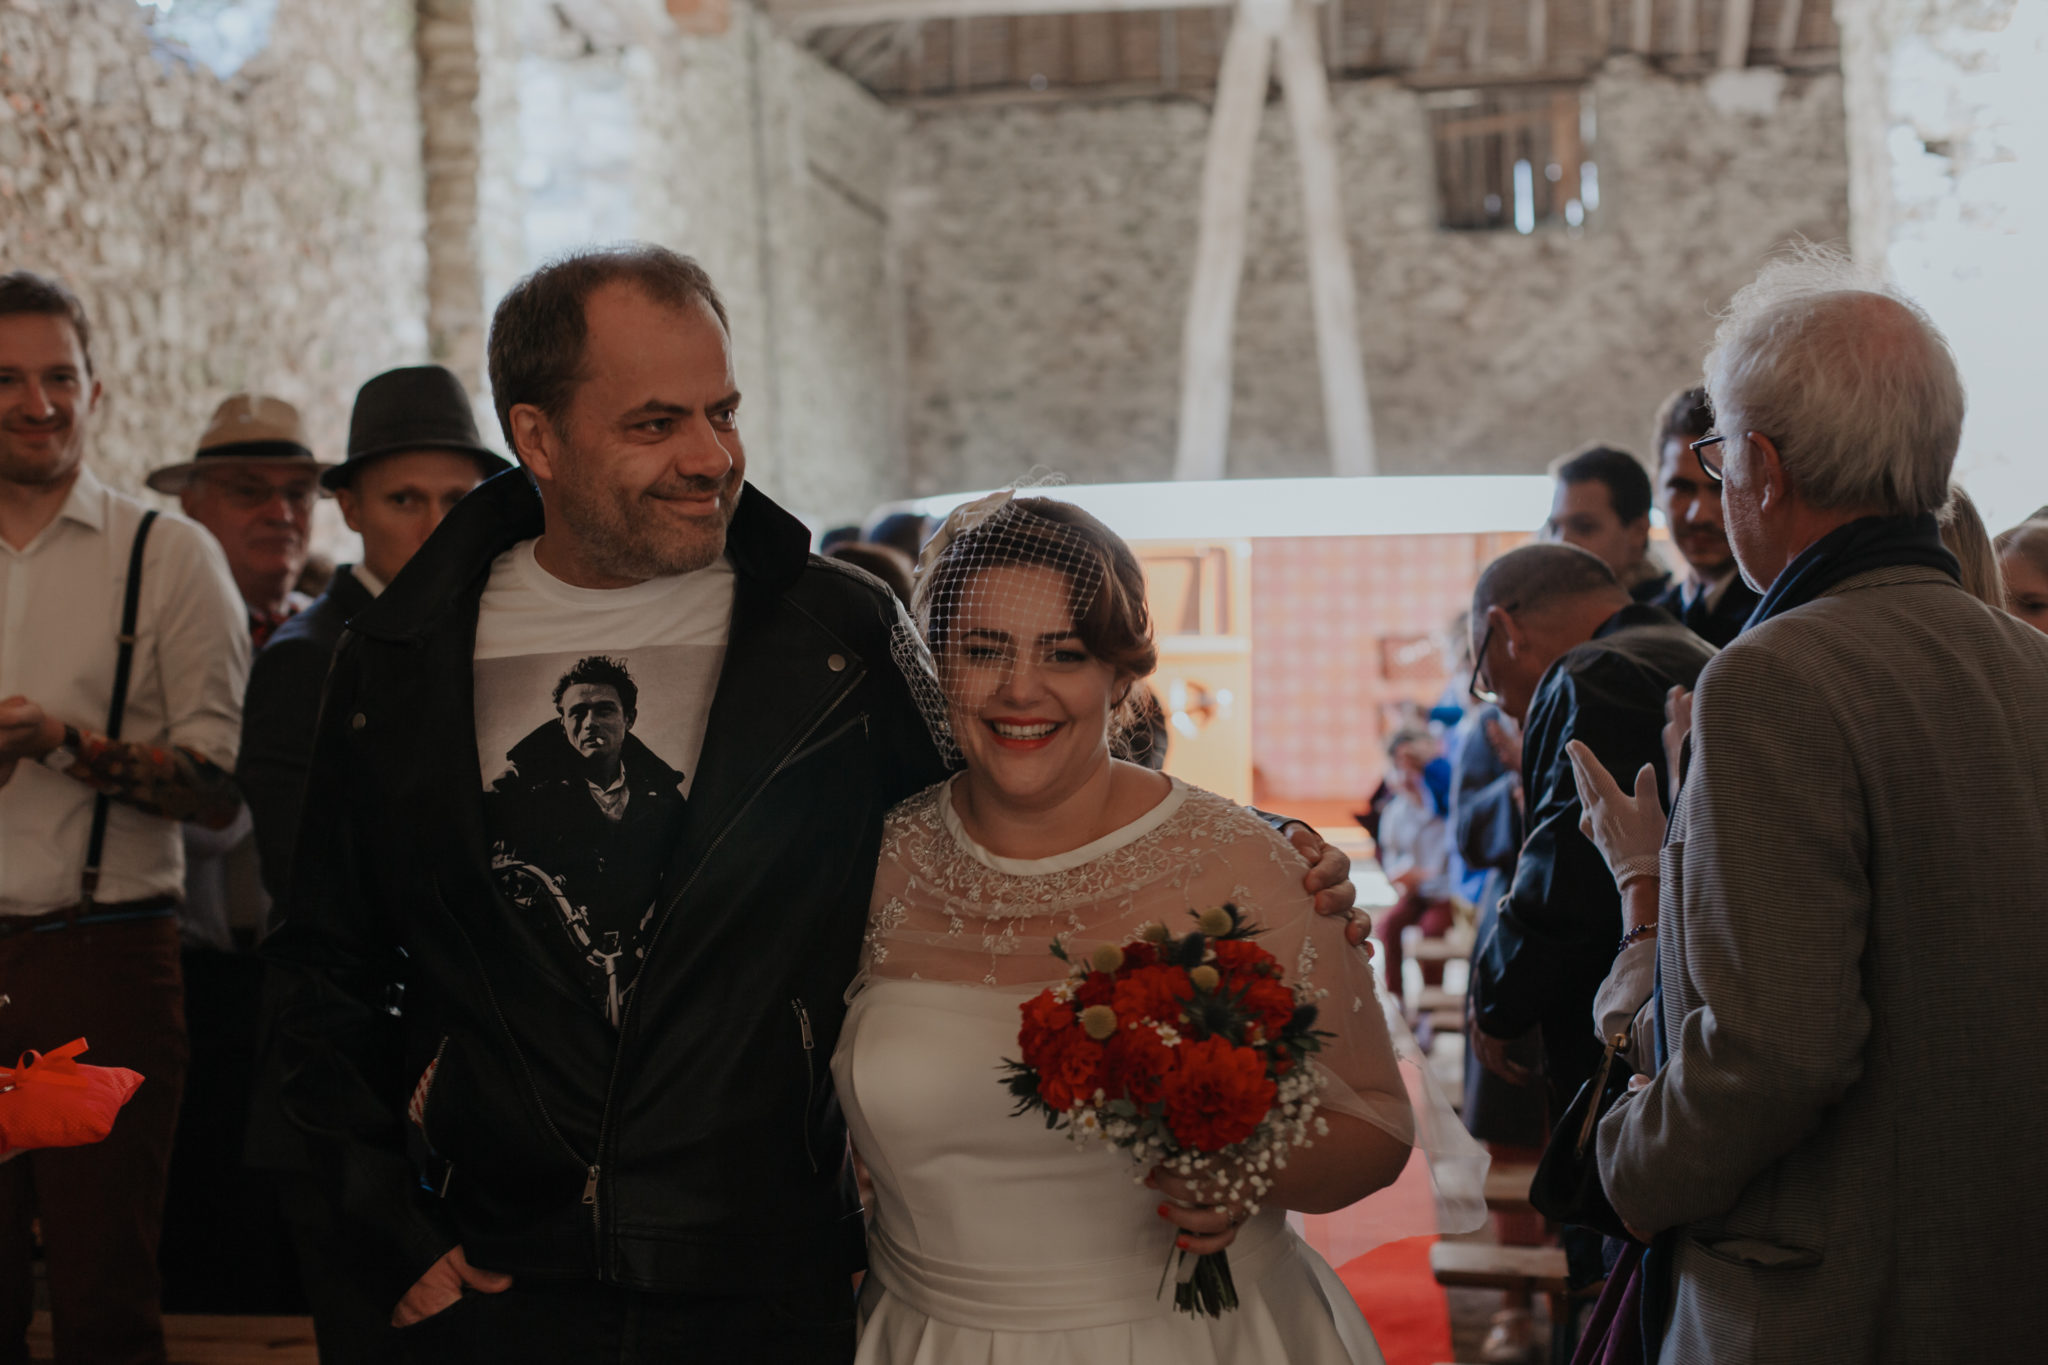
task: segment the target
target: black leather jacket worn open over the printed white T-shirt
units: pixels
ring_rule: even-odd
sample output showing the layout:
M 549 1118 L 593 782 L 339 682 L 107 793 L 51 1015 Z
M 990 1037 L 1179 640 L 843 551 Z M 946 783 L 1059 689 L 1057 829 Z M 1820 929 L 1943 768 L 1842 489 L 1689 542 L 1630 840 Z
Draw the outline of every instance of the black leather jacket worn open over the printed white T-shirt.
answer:
M 842 993 L 883 812 L 942 776 L 891 663 L 899 608 L 745 489 L 725 669 L 614 1031 L 489 876 L 477 602 L 539 532 L 524 473 L 492 479 L 336 653 L 266 945 L 285 1107 L 393 1302 L 455 1244 L 651 1291 L 829 1281 L 860 1265 L 827 1074 Z

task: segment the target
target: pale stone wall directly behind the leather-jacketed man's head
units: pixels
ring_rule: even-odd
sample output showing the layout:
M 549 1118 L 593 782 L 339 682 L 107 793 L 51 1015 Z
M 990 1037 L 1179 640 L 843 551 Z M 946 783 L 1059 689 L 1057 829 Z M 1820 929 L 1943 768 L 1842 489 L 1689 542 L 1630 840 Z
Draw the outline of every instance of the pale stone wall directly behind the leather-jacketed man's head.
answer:
M 905 127 L 745 4 L 688 37 L 637 0 L 487 0 L 489 303 L 575 241 L 698 258 L 733 321 L 750 477 L 817 522 L 903 493 L 889 182 Z M 545 215 L 541 221 L 537 215 Z

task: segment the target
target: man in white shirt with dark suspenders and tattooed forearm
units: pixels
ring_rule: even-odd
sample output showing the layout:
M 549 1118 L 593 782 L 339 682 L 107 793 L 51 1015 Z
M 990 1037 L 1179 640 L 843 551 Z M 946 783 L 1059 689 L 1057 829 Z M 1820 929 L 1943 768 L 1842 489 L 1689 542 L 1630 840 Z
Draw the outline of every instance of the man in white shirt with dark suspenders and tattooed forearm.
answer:
M 240 808 L 250 647 L 219 546 L 158 518 L 106 735 L 145 508 L 82 465 L 98 399 L 78 299 L 0 276 L 0 1056 L 86 1038 L 90 1062 L 145 1076 L 106 1142 L 0 1164 L 0 1353 L 25 1353 L 39 1218 L 57 1355 L 115 1365 L 164 1359 L 156 1242 L 186 1062 L 178 821 L 223 827 Z

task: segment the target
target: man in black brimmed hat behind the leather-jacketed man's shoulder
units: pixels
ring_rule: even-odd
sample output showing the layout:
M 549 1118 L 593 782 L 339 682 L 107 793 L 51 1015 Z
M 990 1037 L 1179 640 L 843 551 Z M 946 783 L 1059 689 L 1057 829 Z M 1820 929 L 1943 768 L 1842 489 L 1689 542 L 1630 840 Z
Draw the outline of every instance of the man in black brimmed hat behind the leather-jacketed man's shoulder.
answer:
M 340 501 L 348 528 L 362 536 L 362 561 L 338 569 L 313 606 L 279 626 L 256 655 L 242 708 L 236 780 L 256 817 L 262 876 L 276 909 L 289 913 L 291 845 L 313 759 L 319 694 L 342 626 L 397 577 L 469 489 L 502 469 L 510 465 L 477 438 L 463 381 L 442 366 L 387 370 L 356 393 L 348 458 L 326 471 L 322 483 Z M 356 1265 L 354 1242 L 340 1232 L 340 1209 L 307 1173 L 305 1140 L 285 1119 L 276 1076 L 264 1081 L 250 1113 L 248 1162 L 276 1175 L 319 1359 L 379 1361 L 391 1334 L 391 1304 L 371 1287 L 377 1275 Z

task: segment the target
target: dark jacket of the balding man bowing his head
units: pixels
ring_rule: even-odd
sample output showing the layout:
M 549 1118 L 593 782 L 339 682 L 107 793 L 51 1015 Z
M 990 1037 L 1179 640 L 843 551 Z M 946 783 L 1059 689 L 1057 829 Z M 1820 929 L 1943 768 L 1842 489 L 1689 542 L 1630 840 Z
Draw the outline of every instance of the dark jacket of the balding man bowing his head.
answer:
M 1714 647 L 1653 606 L 1626 606 L 1565 653 L 1536 686 L 1522 739 L 1528 835 L 1493 933 L 1473 954 L 1479 1027 L 1518 1038 L 1540 1023 L 1550 1095 L 1563 1105 L 1599 1064 L 1593 995 L 1622 937 L 1622 896 L 1579 833 L 1567 741 L 1581 741 L 1634 788 L 1657 767 L 1665 790 L 1665 692 L 1690 688 Z

